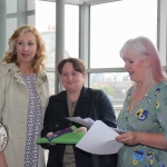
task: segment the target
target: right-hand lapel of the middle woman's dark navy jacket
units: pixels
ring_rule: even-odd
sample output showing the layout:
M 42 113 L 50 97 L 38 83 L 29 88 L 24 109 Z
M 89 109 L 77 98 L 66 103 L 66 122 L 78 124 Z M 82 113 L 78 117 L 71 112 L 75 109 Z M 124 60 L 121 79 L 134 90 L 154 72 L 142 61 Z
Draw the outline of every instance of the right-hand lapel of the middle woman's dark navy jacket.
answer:
M 88 109 L 89 102 L 90 102 L 89 89 L 82 87 L 75 112 L 73 112 L 73 117 L 77 117 L 77 116 L 82 117 L 86 112 L 86 108 Z

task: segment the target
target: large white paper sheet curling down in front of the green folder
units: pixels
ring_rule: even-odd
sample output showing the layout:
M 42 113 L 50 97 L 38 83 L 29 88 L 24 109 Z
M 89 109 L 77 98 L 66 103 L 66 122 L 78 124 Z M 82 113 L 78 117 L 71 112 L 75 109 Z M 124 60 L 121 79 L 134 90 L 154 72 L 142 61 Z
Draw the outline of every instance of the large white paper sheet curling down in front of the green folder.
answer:
M 96 120 L 87 134 L 76 145 L 78 148 L 96 155 L 116 154 L 122 147 L 121 143 L 115 140 L 118 134 L 104 124 Z

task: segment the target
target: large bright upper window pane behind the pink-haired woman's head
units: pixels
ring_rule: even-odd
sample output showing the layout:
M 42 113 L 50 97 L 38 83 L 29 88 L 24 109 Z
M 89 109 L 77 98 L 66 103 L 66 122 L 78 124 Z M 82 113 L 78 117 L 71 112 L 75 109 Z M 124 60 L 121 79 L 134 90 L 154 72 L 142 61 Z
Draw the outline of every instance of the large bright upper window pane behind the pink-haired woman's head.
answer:
M 119 50 L 126 40 L 137 36 L 146 36 L 157 45 L 157 0 L 91 6 L 90 68 L 124 67 Z

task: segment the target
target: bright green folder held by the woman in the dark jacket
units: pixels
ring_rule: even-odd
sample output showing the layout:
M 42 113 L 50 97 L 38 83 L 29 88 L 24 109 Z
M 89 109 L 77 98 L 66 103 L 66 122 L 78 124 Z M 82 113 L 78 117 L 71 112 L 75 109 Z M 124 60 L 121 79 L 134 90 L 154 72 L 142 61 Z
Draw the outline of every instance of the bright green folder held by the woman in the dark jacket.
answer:
M 72 126 L 72 130 L 77 129 L 77 127 Z M 81 131 L 79 132 L 67 132 L 61 136 L 58 136 L 53 138 L 51 141 L 49 141 L 46 137 L 37 139 L 37 144 L 77 144 L 81 138 L 84 137 L 84 134 Z

